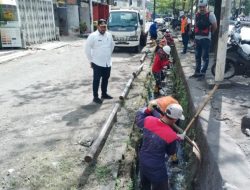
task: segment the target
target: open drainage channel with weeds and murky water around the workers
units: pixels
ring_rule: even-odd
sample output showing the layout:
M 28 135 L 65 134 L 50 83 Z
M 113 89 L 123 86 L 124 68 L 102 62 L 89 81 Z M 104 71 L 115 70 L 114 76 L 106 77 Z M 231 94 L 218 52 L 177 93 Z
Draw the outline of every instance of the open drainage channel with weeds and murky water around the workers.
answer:
M 189 109 L 189 103 L 188 103 L 188 95 L 186 92 L 186 88 L 184 86 L 184 83 L 182 81 L 182 78 L 180 77 L 180 63 L 179 58 L 176 52 L 175 48 L 172 48 L 172 56 L 173 56 L 173 66 L 166 71 L 166 78 L 163 81 L 163 88 L 161 95 L 162 96 L 168 96 L 172 95 L 174 96 L 179 103 L 182 105 L 184 110 L 184 115 L 186 116 L 186 120 L 179 123 L 179 126 L 182 129 L 185 129 L 187 122 L 190 118 L 190 112 L 188 112 Z M 151 62 L 153 59 L 151 60 Z M 148 101 L 151 99 L 155 99 L 154 93 L 153 93 L 153 86 L 154 86 L 154 78 L 152 74 L 148 73 L 147 79 L 145 80 L 145 91 L 147 94 L 145 105 Z M 143 106 L 143 105 L 141 105 Z M 128 171 L 128 169 L 124 169 L 126 167 L 130 167 L 130 180 L 132 181 L 132 185 L 130 183 L 129 187 L 125 189 L 134 189 L 139 190 L 140 189 L 140 175 L 139 175 L 139 168 L 138 168 L 138 152 L 140 149 L 141 139 L 142 139 L 142 132 L 140 129 L 137 128 L 137 126 L 133 126 L 133 132 L 130 139 L 130 148 L 128 149 L 134 149 L 135 150 L 135 159 L 133 161 L 133 164 L 130 166 L 126 166 L 126 159 L 123 160 L 123 163 L 121 163 L 120 172 L 118 174 L 118 181 L 119 178 L 123 178 L 124 171 Z M 194 129 L 190 129 L 188 133 L 189 137 L 194 139 L 195 138 L 195 131 Z M 126 154 L 126 153 L 125 153 Z M 192 190 L 193 183 L 196 179 L 196 172 L 199 167 L 199 163 L 197 161 L 197 158 L 194 156 L 192 152 L 192 147 L 187 144 L 185 141 L 178 143 L 178 151 L 177 151 L 177 157 L 178 157 L 178 164 L 173 164 L 170 159 L 166 161 L 166 164 L 168 166 L 168 175 L 169 175 L 169 184 L 170 184 L 170 190 Z M 117 185 L 116 189 L 121 189 L 119 185 Z

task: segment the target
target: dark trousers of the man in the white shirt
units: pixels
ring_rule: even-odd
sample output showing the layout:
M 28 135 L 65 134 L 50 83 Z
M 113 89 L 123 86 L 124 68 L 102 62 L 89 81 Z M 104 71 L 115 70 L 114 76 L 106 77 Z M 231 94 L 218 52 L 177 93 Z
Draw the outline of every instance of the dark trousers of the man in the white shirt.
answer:
M 98 98 L 98 89 L 100 84 L 100 79 L 102 78 L 101 90 L 102 95 L 107 94 L 108 79 L 110 77 L 111 67 L 100 67 L 92 63 L 93 68 L 93 96 Z

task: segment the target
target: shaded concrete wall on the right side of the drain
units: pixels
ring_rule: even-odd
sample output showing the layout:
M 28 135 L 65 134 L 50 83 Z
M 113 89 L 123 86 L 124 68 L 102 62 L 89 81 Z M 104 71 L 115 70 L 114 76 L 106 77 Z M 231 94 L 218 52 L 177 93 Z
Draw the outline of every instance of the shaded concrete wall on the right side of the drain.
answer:
M 181 67 L 180 59 L 177 53 L 176 48 L 172 51 L 173 57 L 176 61 L 177 71 L 179 76 L 182 78 L 183 85 L 187 92 L 187 100 L 189 102 L 188 110 L 189 116 L 192 117 L 195 115 L 195 107 L 194 102 L 191 97 L 191 93 L 189 91 L 189 87 L 187 81 L 185 80 L 185 75 Z M 191 119 L 189 117 L 189 119 Z M 218 165 L 214 161 L 211 150 L 207 144 L 206 137 L 202 132 L 201 123 L 199 120 L 196 120 L 193 124 L 193 130 L 188 132 L 188 135 L 198 144 L 201 151 L 201 162 L 196 160 L 195 158 L 191 158 L 190 171 L 193 171 L 193 174 L 190 177 L 192 182 L 192 190 L 220 190 L 223 189 L 223 180 L 220 175 Z

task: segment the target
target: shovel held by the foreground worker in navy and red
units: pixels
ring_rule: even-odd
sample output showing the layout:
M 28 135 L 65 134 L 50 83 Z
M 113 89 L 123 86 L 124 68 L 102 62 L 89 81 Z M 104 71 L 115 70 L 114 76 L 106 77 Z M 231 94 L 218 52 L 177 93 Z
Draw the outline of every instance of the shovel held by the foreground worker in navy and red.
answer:
M 166 115 L 163 111 L 161 111 L 161 109 L 159 107 L 154 107 L 154 109 L 159 112 L 161 115 Z M 178 133 L 183 133 L 183 130 L 177 126 L 176 124 L 173 125 L 173 128 L 178 132 Z M 187 135 L 185 135 L 185 139 L 187 140 L 187 142 L 193 147 L 193 153 L 195 154 L 195 156 L 197 157 L 197 159 L 199 161 L 201 161 L 201 152 L 200 149 L 198 147 L 198 145 L 192 141 Z

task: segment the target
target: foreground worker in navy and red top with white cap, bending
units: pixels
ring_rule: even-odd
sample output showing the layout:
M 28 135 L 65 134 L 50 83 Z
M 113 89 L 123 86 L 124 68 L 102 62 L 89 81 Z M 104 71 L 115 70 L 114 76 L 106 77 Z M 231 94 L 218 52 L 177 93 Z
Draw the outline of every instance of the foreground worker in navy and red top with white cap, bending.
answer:
M 136 124 L 143 129 L 143 143 L 139 153 L 139 169 L 143 190 L 168 190 L 166 155 L 176 153 L 176 142 L 183 140 L 185 134 L 176 134 L 172 125 L 184 120 L 182 107 L 170 103 L 160 116 L 154 110 L 157 101 L 152 100 L 148 107 L 141 108 L 136 114 Z M 159 119 L 160 117 L 160 119 Z

